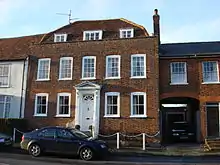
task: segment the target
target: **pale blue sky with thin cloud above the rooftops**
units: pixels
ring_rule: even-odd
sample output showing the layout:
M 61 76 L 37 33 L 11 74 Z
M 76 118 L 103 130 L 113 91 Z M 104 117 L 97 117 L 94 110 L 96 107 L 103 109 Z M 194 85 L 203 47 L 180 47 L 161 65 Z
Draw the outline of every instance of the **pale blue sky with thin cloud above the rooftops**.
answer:
M 126 18 L 153 33 L 160 15 L 161 43 L 220 41 L 219 0 L 0 0 L 0 38 L 48 33 L 77 20 Z

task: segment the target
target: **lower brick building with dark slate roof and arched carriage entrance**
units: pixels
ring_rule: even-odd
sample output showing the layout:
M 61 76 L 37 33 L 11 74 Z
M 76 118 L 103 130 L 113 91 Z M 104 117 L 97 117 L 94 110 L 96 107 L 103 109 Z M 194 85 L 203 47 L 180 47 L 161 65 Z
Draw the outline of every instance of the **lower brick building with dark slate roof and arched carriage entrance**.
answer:
M 198 142 L 218 137 L 220 42 L 162 44 L 160 48 L 162 139 L 169 138 L 167 131 L 176 120 L 188 121 Z

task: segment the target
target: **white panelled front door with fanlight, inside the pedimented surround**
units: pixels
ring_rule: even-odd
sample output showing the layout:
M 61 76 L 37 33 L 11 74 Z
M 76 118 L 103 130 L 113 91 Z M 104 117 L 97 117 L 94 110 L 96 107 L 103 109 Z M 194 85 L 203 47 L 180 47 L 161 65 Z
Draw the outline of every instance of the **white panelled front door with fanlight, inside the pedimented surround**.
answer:
M 89 126 L 93 125 L 94 115 L 94 95 L 84 94 L 81 105 L 81 127 L 82 131 L 89 131 Z

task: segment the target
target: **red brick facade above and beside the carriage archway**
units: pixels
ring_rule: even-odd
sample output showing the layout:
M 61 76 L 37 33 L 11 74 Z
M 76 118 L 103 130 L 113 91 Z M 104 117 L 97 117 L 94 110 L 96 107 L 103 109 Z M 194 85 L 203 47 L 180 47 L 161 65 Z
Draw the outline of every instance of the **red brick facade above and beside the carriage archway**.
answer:
M 171 97 L 190 97 L 199 101 L 200 111 L 200 140 L 207 136 L 206 108 L 207 102 L 220 102 L 219 84 L 203 84 L 202 62 L 218 61 L 218 57 L 183 57 L 160 59 L 160 100 Z M 170 63 L 187 63 L 186 85 L 170 85 Z

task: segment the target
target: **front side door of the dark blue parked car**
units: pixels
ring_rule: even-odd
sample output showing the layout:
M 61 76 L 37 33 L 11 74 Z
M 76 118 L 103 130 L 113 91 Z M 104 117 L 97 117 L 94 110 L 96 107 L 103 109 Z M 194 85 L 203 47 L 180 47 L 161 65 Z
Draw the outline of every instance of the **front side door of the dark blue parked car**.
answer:
M 62 153 L 77 154 L 80 140 L 67 129 L 57 129 L 57 150 Z

